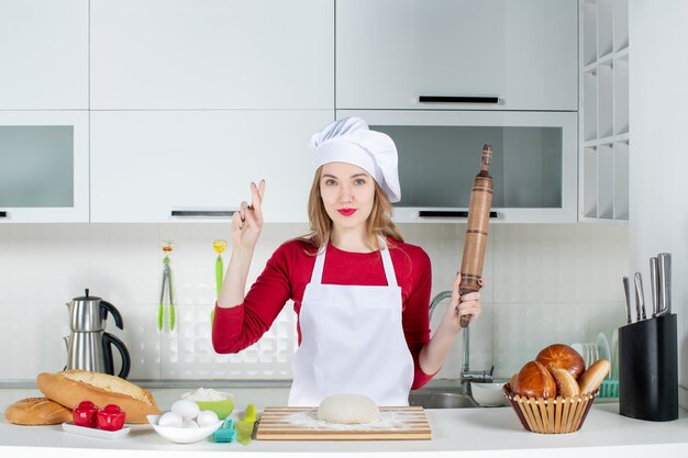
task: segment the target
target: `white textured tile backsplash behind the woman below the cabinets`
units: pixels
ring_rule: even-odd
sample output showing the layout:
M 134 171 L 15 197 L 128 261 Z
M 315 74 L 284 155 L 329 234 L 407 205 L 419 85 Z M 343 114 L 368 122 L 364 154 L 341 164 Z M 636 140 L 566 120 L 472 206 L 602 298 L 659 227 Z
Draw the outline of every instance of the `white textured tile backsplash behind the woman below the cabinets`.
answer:
M 281 242 L 306 232 L 306 225 L 267 224 L 248 282 Z M 408 224 L 401 232 L 430 255 L 433 295 L 448 289 L 465 225 Z M 65 303 L 85 288 L 122 313 L 124 331 L 112 320 L 108 331 L 129 348 L 130 379 L 289 379 L 296 346 L 290 303 L 253 347 L 238 355 L 212 349 L 212 241 L 229 237 L 229 224 L 218 223 L 0 225 L 0 381 L 32 381 L 41 371 L 63 369 L 63 336 L 69 334 Z M 173 332 L 157 328 L 164 239 L 175 242 Z M 223 254 L 225 267 L 230 252 Z M 496 376 L 510 377 L 550 343 L 595 342 L 600 332 L 611 336 L 624 321 L 620 279 L 628 266 L 625 226 L 492 225 L 484 314 L 470 327 L 471 368 L 493 365 Z M 434 325 L 441 315 L 441 310 L 434 314 Z M 437 377 L 458 375 L 460 347 L 458 338 Z

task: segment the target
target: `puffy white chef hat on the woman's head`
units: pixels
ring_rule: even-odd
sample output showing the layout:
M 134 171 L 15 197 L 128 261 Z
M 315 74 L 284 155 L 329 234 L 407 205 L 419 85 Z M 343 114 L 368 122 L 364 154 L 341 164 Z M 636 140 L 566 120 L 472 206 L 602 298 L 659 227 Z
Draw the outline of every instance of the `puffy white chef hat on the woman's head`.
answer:
M 401 189 L 397 146 L 389 135 L 370 131 L 360 118 L 335 121 L 311 137 L 315 168 L 329 163 L 360 167 L 382 188 L 391 202 L 399 202 Z

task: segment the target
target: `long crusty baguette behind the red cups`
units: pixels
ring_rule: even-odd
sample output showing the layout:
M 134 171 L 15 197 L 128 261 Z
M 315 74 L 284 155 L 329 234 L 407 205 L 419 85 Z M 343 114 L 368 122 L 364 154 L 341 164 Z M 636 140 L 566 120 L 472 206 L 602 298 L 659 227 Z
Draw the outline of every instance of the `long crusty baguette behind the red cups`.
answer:
M 36 378 L 36 383 L 46 398 L 69 409 L 85 400 L 101 409 L 108 404 L 116 404 L 126 413 L 126 423 L 146 423 L 146 415 L 160 413 L 151 392 L 107 373 L 78 369 L 42 372 Z

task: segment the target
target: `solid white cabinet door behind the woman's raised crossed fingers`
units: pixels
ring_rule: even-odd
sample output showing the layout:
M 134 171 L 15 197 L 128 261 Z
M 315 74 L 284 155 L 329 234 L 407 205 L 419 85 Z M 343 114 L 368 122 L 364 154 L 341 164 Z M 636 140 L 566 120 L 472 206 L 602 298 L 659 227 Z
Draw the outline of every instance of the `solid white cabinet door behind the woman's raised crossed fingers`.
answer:
M 265 221 L 306 222 L 308 142 L 333 120 L 332 110 L 93 112 L 91 221 L 231 212 L 251 201 L 251 181 L 265 179 Z

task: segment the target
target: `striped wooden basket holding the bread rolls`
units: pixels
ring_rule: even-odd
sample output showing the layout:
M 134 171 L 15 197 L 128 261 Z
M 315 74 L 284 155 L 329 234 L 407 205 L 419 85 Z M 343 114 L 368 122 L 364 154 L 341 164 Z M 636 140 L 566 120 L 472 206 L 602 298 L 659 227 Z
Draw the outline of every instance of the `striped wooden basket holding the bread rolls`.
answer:
M 582 426 L 599 390 L 572 398 L 522 398 L 511 392 L 511 386 L 502 387 L 504 395 L 517 413 L 521 425 L 533 433 L 574 433 Z

